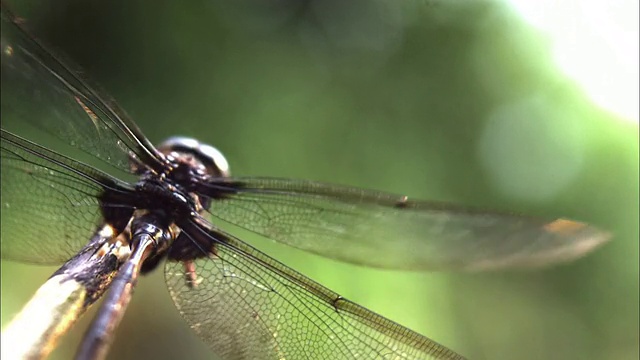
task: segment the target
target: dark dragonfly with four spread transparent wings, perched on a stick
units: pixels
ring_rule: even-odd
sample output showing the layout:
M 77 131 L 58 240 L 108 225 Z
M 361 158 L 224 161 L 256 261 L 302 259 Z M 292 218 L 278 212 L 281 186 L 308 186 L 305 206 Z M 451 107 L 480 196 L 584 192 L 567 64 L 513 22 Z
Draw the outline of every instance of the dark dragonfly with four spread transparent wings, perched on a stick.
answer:
M 102 357 L 101 334 L 124 313 L 138 275 L 162 264 L 179 312 L 223 359 L 463 359 L 221 224 L 326 258 L 406 271 L 539 267 L 610 238 L 564 218 L 233 177 L 222 153 L 195 139 L 151 144 L 23 22 L 2 6 L 2 259 L 60 264 L 116 244 L 126 250 L 111 262 L 117 275 L 78 359 Z

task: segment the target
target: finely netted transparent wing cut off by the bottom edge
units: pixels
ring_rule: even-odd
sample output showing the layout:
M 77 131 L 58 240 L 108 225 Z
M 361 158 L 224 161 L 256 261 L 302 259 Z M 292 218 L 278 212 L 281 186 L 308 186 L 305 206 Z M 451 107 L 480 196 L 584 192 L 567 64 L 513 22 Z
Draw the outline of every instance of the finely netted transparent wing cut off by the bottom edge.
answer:
M 201 249 L 217 245 L 195 260 L 195 287 L 184 265 L 169 261 L 167 285 L 182 316 L 224 359 L 463 359 L 230 235 L 199 224 L 183 231 Z

